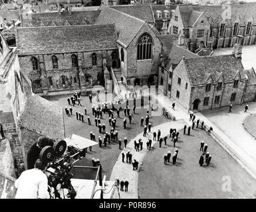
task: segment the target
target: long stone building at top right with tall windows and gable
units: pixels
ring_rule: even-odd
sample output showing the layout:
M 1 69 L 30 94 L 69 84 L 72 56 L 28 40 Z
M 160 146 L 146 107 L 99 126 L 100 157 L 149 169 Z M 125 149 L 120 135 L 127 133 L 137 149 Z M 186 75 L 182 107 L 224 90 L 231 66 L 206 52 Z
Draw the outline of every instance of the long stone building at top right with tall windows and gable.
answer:
M 233 46 L 238 36 L 242 45 L 255 44 L 256 4 L 191 6 L 178 5 L 170 21 L 170 34 L 180 34 L 186 48 L 195 52 Z

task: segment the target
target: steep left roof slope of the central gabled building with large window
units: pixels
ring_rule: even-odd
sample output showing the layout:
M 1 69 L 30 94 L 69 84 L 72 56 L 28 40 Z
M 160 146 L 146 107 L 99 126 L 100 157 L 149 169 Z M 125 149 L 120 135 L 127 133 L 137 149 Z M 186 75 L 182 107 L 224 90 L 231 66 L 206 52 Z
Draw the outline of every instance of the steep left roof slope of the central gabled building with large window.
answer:
M 96 25 L 114 23 L 118 34 L 118 41 L 124 44 L 124 46 L 128 46 L 140 28 L 146 24 L 145 21 L 108 6 L 102 5 L 100 9 L 101 12 L 96 21 Z

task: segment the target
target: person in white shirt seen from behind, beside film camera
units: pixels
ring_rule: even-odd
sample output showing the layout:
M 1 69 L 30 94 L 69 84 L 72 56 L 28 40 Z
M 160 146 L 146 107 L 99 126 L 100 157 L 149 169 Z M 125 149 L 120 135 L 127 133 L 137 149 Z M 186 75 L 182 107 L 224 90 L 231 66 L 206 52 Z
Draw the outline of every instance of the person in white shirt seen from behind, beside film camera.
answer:
M 37 159 L 35 168 L 26 170 L 15 181 L 16 199 L 49 199 L 48 179 L 43 172 L 46 166 Z

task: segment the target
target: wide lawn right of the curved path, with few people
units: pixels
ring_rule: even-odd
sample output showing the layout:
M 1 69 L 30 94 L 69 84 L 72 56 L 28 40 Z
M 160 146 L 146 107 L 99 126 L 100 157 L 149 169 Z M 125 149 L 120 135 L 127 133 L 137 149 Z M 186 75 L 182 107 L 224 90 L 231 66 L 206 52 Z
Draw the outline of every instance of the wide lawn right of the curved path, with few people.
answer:
M 200 142 L 204 140 L 212 155 L 209 166 L 199 166 Z M 180 132 L 175 165 L 164 164 L 164 154 L 175 148 L 156 144 L 144 158 L 139 173 L 139 196 L 145 198 L 243 198 L 253 197 L 256 181 L 211 136 L 199 129 L 192 135 Z M 230 186 L 227 186 L 228 182 Z

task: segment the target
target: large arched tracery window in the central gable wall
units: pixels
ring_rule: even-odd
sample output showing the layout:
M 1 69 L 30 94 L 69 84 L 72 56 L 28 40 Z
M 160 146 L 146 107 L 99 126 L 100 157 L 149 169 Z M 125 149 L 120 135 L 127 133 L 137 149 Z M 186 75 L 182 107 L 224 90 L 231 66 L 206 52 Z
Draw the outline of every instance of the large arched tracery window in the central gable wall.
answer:
M 144 33 L 138 40 L 137 59 L 146 60 L 152 57 L 152 38 Z

